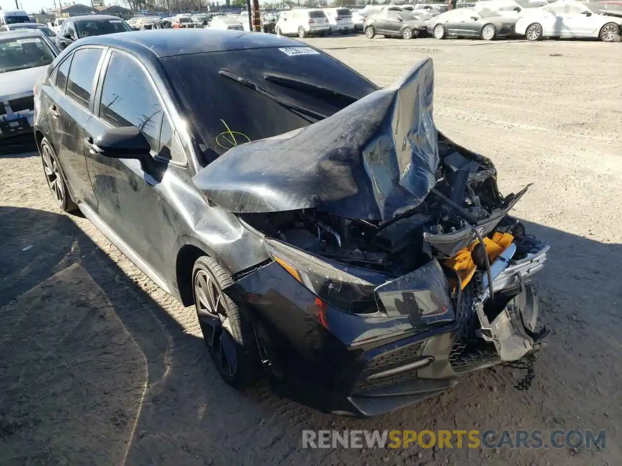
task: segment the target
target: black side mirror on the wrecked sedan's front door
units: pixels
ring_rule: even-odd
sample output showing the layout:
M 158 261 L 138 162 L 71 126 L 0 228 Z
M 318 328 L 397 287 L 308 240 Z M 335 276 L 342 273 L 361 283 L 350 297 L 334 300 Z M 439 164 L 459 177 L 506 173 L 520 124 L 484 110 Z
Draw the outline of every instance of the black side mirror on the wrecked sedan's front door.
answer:
M 144 160 L 151 150 L 146 137 L 136 126 L 111 128 L 85 145 L 91 153 L 110 158 L 137 158 Z

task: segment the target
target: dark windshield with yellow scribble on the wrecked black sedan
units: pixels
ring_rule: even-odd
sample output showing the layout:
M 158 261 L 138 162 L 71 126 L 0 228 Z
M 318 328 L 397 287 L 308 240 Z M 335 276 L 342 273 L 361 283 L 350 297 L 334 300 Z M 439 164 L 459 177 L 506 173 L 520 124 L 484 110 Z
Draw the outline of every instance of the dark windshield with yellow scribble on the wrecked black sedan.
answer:
M 363 76 L 310 47 L 195 53 L 160 62 L 199 136 L 204 163 L 238 144 L 234 141 L 308 126 L 317 121 L 310 115 L 332 115 L 376 90 Z

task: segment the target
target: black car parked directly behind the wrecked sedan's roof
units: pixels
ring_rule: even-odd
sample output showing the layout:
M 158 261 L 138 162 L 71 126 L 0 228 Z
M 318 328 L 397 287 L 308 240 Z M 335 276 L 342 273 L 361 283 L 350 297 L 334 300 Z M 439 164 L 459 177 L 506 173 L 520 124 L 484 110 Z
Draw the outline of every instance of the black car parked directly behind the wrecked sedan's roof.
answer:
M 67 18 L 56 36 L 57 47 L 63 50 L 73 42 L 93 35 L 128 32 L 132 28 L 123 19 L 105 14 L 90 14 Z

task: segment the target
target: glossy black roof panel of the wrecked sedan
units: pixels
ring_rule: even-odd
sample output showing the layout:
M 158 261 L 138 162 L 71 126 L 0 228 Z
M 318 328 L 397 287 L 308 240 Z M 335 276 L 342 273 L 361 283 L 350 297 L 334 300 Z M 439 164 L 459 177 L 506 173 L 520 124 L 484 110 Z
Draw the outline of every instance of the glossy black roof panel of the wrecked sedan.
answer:
M 94 35 L 80 39 L 76 44 L 118 47 L 146 58 L 250 48 L 307 46 L 297 40 L 274 34 L 203 28 L 141 30 Z

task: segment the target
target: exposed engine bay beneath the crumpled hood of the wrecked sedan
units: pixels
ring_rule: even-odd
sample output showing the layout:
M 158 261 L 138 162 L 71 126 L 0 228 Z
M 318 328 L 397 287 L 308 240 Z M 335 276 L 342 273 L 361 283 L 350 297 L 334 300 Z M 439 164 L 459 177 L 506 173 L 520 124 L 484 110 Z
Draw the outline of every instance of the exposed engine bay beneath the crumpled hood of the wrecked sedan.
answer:
M 531 249 L 529 237 L 519 222 L 506 216 L 506 211 L 525 190 L 501 196 L 493 163 L 451 142 L 439 141 L 439 155 L 441 163 L 432 192 L 423 203 L 387 221 L 348 219 L 316 209 L 242 217 L 269 237 L 388 276 L 412 272 L 432 258 L 453 270 L 465 270 L 461 264 L 447 262 L 461 250 L 468 252 L 479 270 L 485 270 L 482 249 L 466 249 L 474 240 L 477 242 L 473 227 L 484 236 L 511 235 L 506 240 L 518 247 L 514 258 L 524 257 Z M 472 265 L 466 267 L 461 281 L 473 272 Z M 462 287 L 465 285 L 462 283 Z

